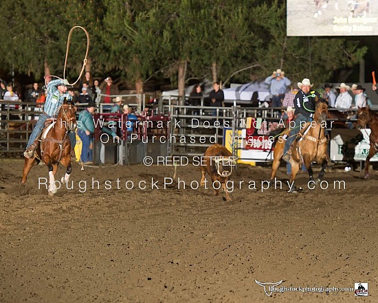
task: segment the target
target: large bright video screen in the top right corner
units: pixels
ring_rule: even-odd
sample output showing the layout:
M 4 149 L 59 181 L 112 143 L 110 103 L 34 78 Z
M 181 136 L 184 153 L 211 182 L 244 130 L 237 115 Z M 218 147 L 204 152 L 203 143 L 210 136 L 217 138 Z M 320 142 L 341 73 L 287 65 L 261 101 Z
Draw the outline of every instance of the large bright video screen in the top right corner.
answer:
M 378 0 L 287 0 L 287 36 L 378 36 Z

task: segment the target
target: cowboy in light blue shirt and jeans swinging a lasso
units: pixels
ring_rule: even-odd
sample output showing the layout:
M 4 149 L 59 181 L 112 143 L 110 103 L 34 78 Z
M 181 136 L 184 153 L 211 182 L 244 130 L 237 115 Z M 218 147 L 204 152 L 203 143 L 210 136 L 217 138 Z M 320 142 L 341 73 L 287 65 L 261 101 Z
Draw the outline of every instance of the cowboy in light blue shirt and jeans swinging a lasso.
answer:
M 47 119 L 51 119 L 56 115 L 56 111 L 66 100 L 71 101 L 72 97 L 67 93 L 67 85 L 69 82 L 66 79 L 52 80 L 47 85 L 47 98 L 45 102 L 45 107 L 43 109 L 43 114 L 39 117 L 36 126 L 29 137 L 29 142 L 27 142 L 27 148 L 23 153 L 24 157 L 30 159 L 34 157 L 34 152 L 39 144 L 38 138 L 40 137 L 43 128 L 45 127 L 45 122 Z M 69 141 L 71 142 L 71 157 L 75 158 L 75 145 L 76 145 L 76 134 L 73 132 L 68 133 Z

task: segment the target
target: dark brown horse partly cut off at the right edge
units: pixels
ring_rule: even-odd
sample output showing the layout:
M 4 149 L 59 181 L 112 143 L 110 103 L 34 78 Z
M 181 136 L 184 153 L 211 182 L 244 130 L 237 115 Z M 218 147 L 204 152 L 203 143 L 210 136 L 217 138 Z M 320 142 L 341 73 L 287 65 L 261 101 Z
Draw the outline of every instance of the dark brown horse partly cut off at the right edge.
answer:
M 365 178 L 369 177 L 370 159 L 378 153 L 378 114 L 372 111 L 369 106 L 360 107 L 357 111 L 357 129 L 370 126 L 369 135 L 370 150 L 365 160 Z

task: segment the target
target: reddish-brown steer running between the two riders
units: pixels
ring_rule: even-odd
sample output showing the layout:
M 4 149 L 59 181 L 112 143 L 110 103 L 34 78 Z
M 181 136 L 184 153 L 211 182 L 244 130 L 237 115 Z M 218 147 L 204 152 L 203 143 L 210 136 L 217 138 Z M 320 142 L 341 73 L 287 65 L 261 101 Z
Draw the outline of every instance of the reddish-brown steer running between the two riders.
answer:
M 205 174 L 211 177 L 214 194 L 219 195 L 219 189 L 225 191 L 225 199 L 230 201 L 230 193 L 226 190 L 225 184 L 232 174 L 232 168 L 236 165 L 236 160 L 232 157 L 227 148 L 220 144 L 214 144 L 205 151 L 201 162 L 202 179 L 201 186 L 205 186 Z M 206 186 L 207 187 L 207 186 Z

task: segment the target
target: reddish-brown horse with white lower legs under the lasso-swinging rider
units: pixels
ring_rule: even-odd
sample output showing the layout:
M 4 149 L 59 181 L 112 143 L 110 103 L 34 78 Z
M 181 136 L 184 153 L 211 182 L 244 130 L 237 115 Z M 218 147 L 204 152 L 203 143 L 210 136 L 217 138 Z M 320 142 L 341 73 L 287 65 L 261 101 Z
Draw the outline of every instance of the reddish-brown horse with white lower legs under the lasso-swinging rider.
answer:
M 71 142 L 67 135 L 68 131 L 76 129 L 76 106 L 63 104 L 57 109 L 57 117 L 52 124 L 45 127 L 41 136 L 41 144 L 38 144 L 34 157 L 25 158 L 23 165 L 23 174 L 21 183 L 24 184 L 27 174 L 32 166 L 38 164 L 41 160 L 45 162 L 49 168 L 49 195 L 56 193 L 55 174 L 58 170 L 59 163 L 67 168 L 65 176 L 61 182 L 67 183 L 72 171 L 71 167 Z M 49 131 L 48 131 L 49 130 Z M 48 131 L 48 132 L 47 132 Z

